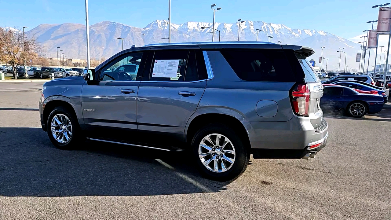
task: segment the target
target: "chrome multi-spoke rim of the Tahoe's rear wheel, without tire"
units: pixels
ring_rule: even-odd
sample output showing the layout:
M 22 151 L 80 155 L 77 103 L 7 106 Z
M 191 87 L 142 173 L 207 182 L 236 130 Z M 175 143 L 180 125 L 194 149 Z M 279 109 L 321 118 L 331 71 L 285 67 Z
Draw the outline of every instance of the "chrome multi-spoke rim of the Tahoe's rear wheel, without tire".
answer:
M 202 164 L 210 171 L 222 173 L 235 162 L 235 148 L 224 135 L 212 133 L 204 137 L 198 147 Z

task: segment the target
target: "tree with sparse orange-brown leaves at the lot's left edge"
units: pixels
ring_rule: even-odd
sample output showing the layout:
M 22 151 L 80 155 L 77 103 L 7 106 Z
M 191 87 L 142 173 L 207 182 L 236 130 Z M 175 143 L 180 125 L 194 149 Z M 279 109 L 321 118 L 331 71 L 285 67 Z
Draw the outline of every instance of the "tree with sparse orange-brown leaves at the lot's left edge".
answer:
M 16 67 L 25 60 L 35 59 L 43 51 L 34 36 L 23 39 L 23 32 L 16 29 L 0 27 L 0 42 L 0 60 L 11 64 L 15 79 L 18 78 Z

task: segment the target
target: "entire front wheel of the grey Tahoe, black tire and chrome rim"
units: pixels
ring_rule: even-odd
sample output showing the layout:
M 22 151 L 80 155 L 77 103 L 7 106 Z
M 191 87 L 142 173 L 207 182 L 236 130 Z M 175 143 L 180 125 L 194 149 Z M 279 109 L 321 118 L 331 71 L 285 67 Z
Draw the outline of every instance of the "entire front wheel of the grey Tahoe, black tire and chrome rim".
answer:
M 47 133 L 52 144 L 61 150 L 72 150 L 83 141 L 77 120 L 62 106 L 54 108 L 50 113 Z

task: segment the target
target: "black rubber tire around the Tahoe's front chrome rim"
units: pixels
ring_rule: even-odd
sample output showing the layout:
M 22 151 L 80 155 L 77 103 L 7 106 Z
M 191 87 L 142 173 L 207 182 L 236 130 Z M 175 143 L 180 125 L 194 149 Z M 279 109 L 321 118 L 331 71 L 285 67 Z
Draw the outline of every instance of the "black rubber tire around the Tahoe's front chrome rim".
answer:
M 53 117 L 58 114 L 65 115 L 69 119 L 70 124 L 71 124 L 72 134 L 68 138 L 68 141 L 66 141 L 64 143 L 56 141 L 56 138 L 54 138 L 54 136 L 52 134 L 52 126 L 51 126 L 52 120 L 53 120 Z M 47 121 L 47 133 L 48 133 L 49 139 L 52 142 L 52 144 L 54 146 L 56 146 L 56 148 L 61 149 L 61 150 L 73 150 L 73 149 L 77 148 L 77 146 L 82 144 L 83 141 L 85 140 L 85 137 L 83 137 L 83 135 L 81 135 L 81 129 L 80 129 L 79 123 L 77 122 L 76 117 L 74 116 L 74 114 L 72 114 L 72 112 L 70 110 L 68 110 L 67 108 L 65 108 L 63 106 L 59 106 L 59 107 L 54 108 L 52 110 L 52 112 L 50 113 L 50 115 L 48 117 L 48 121 Z M 65 136 L 63 138 L 66 140 Z

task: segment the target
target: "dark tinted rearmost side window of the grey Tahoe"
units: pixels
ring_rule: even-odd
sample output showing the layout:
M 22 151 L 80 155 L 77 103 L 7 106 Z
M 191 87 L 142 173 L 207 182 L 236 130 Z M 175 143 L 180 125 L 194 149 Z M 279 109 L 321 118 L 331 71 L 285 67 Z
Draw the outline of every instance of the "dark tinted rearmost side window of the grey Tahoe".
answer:
M 237 76 L 246 81 L 295 82 L 283 50 L 221 50 Z

